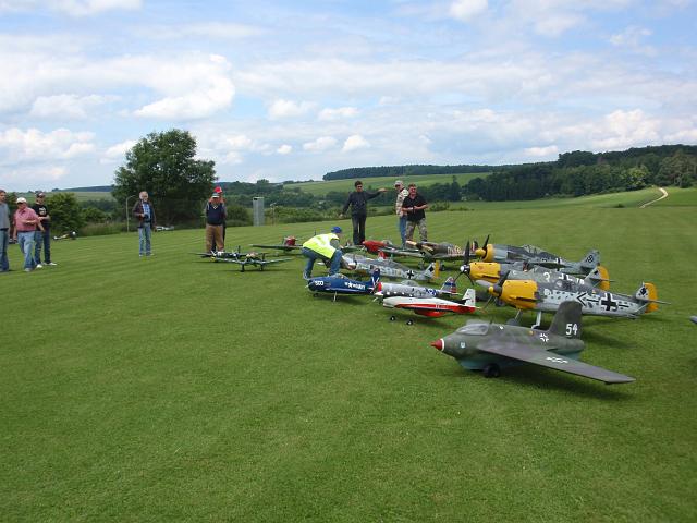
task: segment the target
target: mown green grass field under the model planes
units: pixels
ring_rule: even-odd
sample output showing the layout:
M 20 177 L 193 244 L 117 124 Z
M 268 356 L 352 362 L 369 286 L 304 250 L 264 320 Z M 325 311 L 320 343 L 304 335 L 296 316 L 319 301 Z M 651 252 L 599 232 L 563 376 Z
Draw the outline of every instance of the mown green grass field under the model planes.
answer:
M 696 521 L 697 206 L 625 197 L 428 215 L 431 240 L 597 247 L 613 290 L 655 282 L 671 305 L 585 319 L 582 358 L 637 378 L 615 387 L 485 379 L 429 346 L 467 318 L 313 297 L 301 259 L 241 273 L 193 256 L 203 231 L 158 233 L 143 259 L 134 233 L 54 242 L 60 265 L 28 275 L 12 246 L 2 520 Z M 326 227 L 228 229 L 228 246 Z

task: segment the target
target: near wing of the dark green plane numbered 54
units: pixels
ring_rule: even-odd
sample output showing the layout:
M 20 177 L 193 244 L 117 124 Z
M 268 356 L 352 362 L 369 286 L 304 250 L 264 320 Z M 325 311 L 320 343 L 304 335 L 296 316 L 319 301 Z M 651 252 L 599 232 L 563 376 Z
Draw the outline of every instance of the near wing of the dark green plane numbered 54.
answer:
M 549 351 L 534 349 L 523 343 L 484 343 L 477 346 L 478 350 L 489 354 L 510 357 L 519 362 L 531 363 L 542 367 L 553 368 L 563 373 L 575 374 L 590 379 L 604 381 L 606 384 L 628 384 L 634 378 L 623 374 L 613 373 L 602 367 L 588 365 L 587 363 L 573 360 L 568 356 L 555 354 Z

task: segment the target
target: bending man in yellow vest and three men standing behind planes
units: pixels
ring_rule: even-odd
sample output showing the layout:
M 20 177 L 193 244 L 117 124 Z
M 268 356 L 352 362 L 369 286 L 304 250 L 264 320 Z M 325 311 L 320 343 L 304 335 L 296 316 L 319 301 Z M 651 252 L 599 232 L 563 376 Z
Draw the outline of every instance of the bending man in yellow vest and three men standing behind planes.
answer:
M 363 190 L 363 182 L 357 180 L 354 183 L 355 191 L 348 195 L 348 199 L 341 209 L 340 218 L 343 218 L 348 207 L 351 207 L 351 222 L 353 224 L 353 244 L 360 245 L 366 239 L 366 219 L 368 217 L 368 200 L 387 192 L 382 187 L 376 192 L 367 192 Z M 426 209 L 428 203 L 426 198 L 418 194 L 416 184 L 409 183 L 408 188 L 404 188 L 404 182 L 398 180 L 394 182 L 396 191 L 396 202 L 394 208 L 398 216 L 398 229 L 402 239 L 402 248 L 406 245 L 406 241 L 412 241 L 414 231 L 418 228 L 421 242 L 428 241 L 428 231 L 426 229 Z M 342 234 L 341 227 L 332 227 L 331 231 L 326 234 L 317 234 L 303 244 L 303 255 L 307 258 L 303 278 L 309 280 L 313 277 L 313 267 L 317 259 L 322 259 L 325 265 L 329 267 L 329 276 L 334 276 L 341 268 L 341 251 L 340 236 Z

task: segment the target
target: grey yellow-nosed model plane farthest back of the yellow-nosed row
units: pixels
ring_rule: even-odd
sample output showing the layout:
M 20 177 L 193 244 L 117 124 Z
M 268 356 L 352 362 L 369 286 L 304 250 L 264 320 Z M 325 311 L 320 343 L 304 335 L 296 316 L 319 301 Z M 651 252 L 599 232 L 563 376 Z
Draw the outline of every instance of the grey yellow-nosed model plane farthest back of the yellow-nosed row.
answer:
M 515 245 L 488 243 L 488 241 L 489 236 L 487 236 L 484 247 L 477 247 L 475 250 L 475 254 L 481 258 L 481 262 L 505 264 L 525 262 L 529 266 L 539 265 L 541 267 L 558 269 L 568 275 L 587 275 L 600 263 L 600 253 L 596 250 L 590 251 L 580 262 L 572 262 L 534 245 L 522 245 L 518 247 Z

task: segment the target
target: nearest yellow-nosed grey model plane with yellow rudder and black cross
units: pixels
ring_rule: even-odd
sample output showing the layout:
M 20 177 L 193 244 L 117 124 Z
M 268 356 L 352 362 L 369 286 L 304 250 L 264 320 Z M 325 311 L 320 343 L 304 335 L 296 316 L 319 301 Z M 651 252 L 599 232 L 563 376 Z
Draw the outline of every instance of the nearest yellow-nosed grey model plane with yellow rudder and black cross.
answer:
M 658 309 L 658 293 L 653 283 L 641 283 L 636 293 L 612 293 L 596 289 L 587 283 L 558 279 L 547 282 L 533 280 L 509 280 L 504 275 L 498 283 L 477 283 L 487 287 L 489 294 L 518 309 L 516 320 L 523 311 L 537 311 L 535 325 L 540 325 L 542 313 L 553 313 L 564 302 L 577 302 L 582 313 L 596 316 L 637 318 L 644 313 Z

